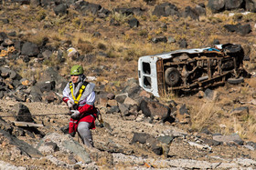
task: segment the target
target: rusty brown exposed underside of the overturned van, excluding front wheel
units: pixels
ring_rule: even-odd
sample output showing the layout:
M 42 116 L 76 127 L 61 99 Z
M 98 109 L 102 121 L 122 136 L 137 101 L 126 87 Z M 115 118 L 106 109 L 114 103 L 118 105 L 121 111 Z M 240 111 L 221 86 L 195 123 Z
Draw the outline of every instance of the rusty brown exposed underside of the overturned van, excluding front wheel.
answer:
M 240 54 L 227 55 L 224 51 L 206 51 L 196 55 L 176 54 L 174 58 L 161 59 L 156 65 L 158 91 L 189 91 L 224 84 L 229 75 L 240 76 L 243 69 L 242 57 Z M 181 75 L 178 85 L 166 84 L 165 74 L 170 67 L 176 68 Z

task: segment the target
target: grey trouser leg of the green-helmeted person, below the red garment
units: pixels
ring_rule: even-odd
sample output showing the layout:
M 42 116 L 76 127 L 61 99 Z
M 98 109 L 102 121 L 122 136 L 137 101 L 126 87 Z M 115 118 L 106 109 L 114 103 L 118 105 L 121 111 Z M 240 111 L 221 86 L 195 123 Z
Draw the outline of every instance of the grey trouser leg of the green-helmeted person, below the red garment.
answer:
M 92 135 L 90 130 L 91 123 L 80 122 L 78 125 L 78 132 L 84 145 L 93 146 Z

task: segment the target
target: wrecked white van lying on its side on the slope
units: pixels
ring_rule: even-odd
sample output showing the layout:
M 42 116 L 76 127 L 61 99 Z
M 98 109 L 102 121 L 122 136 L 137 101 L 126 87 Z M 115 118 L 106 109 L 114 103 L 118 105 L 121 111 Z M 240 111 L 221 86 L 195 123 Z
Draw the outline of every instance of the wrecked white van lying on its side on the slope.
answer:
M 142 56 L 138 60 L 139 84 L 160 96 L 176 90 L 202 90 L 227 81 L 240 83 L 243 55 L 240 45 L 225 44 Z

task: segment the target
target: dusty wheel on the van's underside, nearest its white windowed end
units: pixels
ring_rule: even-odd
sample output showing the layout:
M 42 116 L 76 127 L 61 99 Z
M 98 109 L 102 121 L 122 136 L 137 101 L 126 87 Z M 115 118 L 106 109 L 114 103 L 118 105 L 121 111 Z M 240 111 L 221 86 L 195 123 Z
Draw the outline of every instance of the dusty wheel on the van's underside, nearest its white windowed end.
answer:
M 178 83 L 180 74 L 176 68 L 170 67 L 165 70 L 165 82 L 167 85 L 174 86 Z

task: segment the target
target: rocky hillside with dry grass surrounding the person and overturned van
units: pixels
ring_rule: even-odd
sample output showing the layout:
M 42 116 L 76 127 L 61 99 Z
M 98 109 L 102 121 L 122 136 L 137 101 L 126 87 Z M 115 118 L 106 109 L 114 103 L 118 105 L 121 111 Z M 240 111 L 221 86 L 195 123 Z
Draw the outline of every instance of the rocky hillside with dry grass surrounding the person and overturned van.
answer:
M 0 169 L 256 168 L 255 77 L 197 94 L 144 92 L 137 59 L 240 44 L 255 72 L 250 0 L 0 1 Z M 71 65 L 96 84 L 95 148 L 67 134 Z

